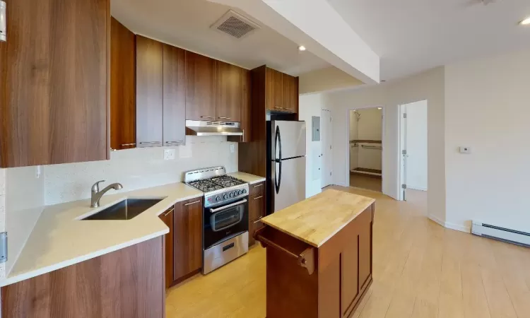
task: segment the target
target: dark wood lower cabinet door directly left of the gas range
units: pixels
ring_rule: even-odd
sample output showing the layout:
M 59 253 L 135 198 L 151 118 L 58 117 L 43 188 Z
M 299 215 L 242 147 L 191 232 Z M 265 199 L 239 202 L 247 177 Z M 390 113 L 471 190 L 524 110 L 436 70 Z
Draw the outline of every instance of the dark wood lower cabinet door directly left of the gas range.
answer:
M 191 199 L 175 205 L 175 280 L 202 267 L 202 199 Z

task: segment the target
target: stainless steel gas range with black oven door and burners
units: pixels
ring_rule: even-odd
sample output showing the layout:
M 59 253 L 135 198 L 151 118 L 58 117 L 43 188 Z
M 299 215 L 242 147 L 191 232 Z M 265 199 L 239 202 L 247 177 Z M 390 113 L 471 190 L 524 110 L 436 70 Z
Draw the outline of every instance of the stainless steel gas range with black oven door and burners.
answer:
M 186 172 L 184 182 L 204 192 L 203 273 L 249 249 L 249 184 L 226 175 L 225 167 Z

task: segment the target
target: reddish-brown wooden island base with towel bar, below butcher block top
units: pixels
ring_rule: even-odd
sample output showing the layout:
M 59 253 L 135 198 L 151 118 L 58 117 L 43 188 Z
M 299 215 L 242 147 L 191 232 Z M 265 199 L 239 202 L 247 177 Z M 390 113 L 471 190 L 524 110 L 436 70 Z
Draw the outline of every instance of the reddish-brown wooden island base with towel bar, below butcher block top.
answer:
M 372 283 L 374 213 L 372 204 L 319 247 L 267 225 L 257 230 L 266 247 L 267 318 L 352 317 Z

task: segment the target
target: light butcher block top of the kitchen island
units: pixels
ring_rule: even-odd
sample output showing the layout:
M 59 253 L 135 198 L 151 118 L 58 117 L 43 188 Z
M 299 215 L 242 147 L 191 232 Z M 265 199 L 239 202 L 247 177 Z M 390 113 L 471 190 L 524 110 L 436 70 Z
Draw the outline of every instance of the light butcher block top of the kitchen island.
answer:
M 313 247 L 321 247 L 374 202 L 366 196 L 329 189 L 261 221 Z

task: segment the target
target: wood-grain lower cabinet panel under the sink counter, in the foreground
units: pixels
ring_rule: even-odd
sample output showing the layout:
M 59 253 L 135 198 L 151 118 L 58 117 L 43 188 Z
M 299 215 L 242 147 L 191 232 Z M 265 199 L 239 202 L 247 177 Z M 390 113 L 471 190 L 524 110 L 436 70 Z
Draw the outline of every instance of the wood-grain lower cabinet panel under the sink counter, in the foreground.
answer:
M 163 237 L 1 288 L 1 317 L 163 318 Z

